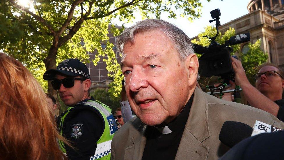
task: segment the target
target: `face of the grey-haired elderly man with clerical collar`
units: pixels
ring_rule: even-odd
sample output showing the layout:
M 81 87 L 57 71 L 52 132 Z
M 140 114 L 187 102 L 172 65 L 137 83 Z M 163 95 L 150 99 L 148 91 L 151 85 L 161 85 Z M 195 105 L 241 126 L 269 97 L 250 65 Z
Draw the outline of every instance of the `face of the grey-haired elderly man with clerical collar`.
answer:
M 197 70 L 189 69 L 188 59 L 196 55 L 181 61 L 160 31 L 137 34 L 134 44 L 126 43 L 123 50 L 121 69 L 132 110 L 150 126 L 171 122 L 194 92 Z M 194 63 L 198 68 L 197 58 Z

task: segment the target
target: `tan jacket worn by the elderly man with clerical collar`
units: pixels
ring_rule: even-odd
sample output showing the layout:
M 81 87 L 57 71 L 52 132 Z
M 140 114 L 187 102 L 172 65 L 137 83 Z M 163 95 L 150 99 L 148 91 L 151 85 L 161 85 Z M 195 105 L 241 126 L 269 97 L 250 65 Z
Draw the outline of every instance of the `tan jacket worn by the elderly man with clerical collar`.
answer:
M 219 140 L 223 123 L 237 121 L 253 126 L 256 120 L 284 129 L 284 123 L 268 112 L 224 101 L 196 88 L 175 159 L 218 159 L 230 149 Z M 111 159 L 142 159 L 146 128 L 139 118 L 125 123 L 112 140 Z

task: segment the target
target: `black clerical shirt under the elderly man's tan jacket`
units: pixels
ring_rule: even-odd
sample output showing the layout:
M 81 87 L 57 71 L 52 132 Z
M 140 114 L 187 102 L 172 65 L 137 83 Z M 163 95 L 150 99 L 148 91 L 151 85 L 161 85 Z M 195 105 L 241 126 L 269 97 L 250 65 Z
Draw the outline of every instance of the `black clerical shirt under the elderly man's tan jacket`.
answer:
M 154 126 L 149 126 L 147 128 L 145 131 L 147 140 L 142 160 L 175 159 L 182 133 L 189 116 L 192 101 L 193 95 L 180 114 L 167 125 L 172 133 L 162 134 Z

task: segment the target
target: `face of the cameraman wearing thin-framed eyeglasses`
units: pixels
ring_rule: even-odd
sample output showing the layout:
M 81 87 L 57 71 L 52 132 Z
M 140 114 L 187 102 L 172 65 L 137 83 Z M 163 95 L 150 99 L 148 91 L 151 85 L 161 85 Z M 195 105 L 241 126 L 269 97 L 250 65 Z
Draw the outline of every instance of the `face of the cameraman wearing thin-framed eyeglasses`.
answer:
M 258 73 L 265 73 L 267 71 L 278 72 L 278 69 L 274 66 L 264 66 Z M 255 87 L 262 94 L 279 94 L 279 96 L 282 96 L 284 80 L 277 73 L 275 73 L 273 77 L 266 77 L 266 75 L 263 74 L 255 81 Z

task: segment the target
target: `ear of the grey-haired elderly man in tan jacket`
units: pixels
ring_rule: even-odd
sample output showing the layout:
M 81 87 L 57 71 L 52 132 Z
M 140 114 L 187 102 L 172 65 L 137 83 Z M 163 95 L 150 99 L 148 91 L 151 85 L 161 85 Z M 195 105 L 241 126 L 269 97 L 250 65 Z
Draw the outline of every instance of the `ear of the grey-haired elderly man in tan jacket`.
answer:
M 191 86 L 195 84 L 198 74 L 199 63 L 196 54 L 189 54 L 185 60 L 185 65 L 188 70 L 189 86 Z

